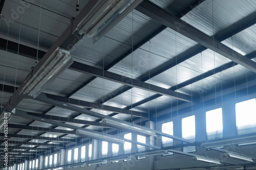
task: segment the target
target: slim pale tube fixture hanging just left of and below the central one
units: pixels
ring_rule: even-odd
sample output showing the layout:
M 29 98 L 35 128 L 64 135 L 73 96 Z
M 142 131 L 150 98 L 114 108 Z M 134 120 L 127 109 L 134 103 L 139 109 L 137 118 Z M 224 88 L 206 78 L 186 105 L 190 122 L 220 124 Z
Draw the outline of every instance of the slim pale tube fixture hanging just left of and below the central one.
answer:
M 84 129 L 84 130 L 78 129 L 78 130 L 76 130 L 75 134 L 78 136 L 97 138 L 97 139 L 104 140 L 104 141 L 108 140 L 108 141 L 111 141 L 111 142 L 117 143 L 117 144 L 124 143 L 124 140 L 119 139 L 117 136 L 108 135 L 108 134 L 103 135 L 103 134 L 99 134 L 97 132 L 87 131 L 86 129 Z

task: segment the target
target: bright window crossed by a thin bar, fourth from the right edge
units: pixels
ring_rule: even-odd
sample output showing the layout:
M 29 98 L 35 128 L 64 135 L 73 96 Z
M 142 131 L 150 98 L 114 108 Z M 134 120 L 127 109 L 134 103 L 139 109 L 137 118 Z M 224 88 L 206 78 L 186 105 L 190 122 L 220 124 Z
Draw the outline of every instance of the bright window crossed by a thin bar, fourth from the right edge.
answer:
M 169 134 L 169 135 L 174 135 L 174 123 L 173 122 L 167 122 L 162 124 L 162 132 Z M 162 144 L 163 147 L 169 147 L 173 145 L 173 139 L 164 137 L 162 136 Z

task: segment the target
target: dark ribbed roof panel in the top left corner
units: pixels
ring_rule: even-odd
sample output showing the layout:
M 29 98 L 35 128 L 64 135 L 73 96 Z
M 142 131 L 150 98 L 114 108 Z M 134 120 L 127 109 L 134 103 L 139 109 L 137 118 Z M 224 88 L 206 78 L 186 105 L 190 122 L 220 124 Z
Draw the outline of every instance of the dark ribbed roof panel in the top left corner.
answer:
M 59 8 L 63 8 L 61 4 L 67 6 L 65 3 L 58 2 Z M 51 47 L 57 37 L 69 26 L 70 18 L 53 12 L 51 8 L 44 8 L 44 6 L 50 6 L 50 2 L 48 1 L 46 5 L 42 4 L 41 14 L 40 4 L 38 6 L 26 4 L 22 12 L 18 11 L 22 7 L 19 1 L 6 1 L 2 12 L 4 19 L 1 20 L 1 32 L 37 44 L 38 30 L 40 30 L 39 45 Z M 66 8 L 68 7 L 69 5 Z M 9 18 L 11 21 L 8 28 Z

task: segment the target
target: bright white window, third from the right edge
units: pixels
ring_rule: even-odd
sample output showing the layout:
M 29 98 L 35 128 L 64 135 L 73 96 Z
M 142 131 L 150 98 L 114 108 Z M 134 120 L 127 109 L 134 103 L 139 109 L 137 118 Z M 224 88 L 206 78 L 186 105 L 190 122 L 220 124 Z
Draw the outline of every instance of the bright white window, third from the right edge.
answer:
M 181 119 L 181 133 L 182 138 L 191 141 L 196 141 L 196 123 L 195 115 L 184 117 Z M 183 152 L 196 152 L 196 147 L 183 147 Z

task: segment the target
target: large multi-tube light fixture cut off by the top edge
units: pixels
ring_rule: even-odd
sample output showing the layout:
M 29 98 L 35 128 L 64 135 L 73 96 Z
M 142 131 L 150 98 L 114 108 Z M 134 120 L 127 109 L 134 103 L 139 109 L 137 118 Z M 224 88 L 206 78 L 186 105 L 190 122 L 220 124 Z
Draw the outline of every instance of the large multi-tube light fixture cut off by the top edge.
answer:
M 77 27 L 78 33 L 86 37 L 97 35 L 94 43 L 113 28 L 123 17 L 143 0 L 108 0 L 99 2 L 91 14 Z M 102 34 L 103 33 L 103 34 Z

